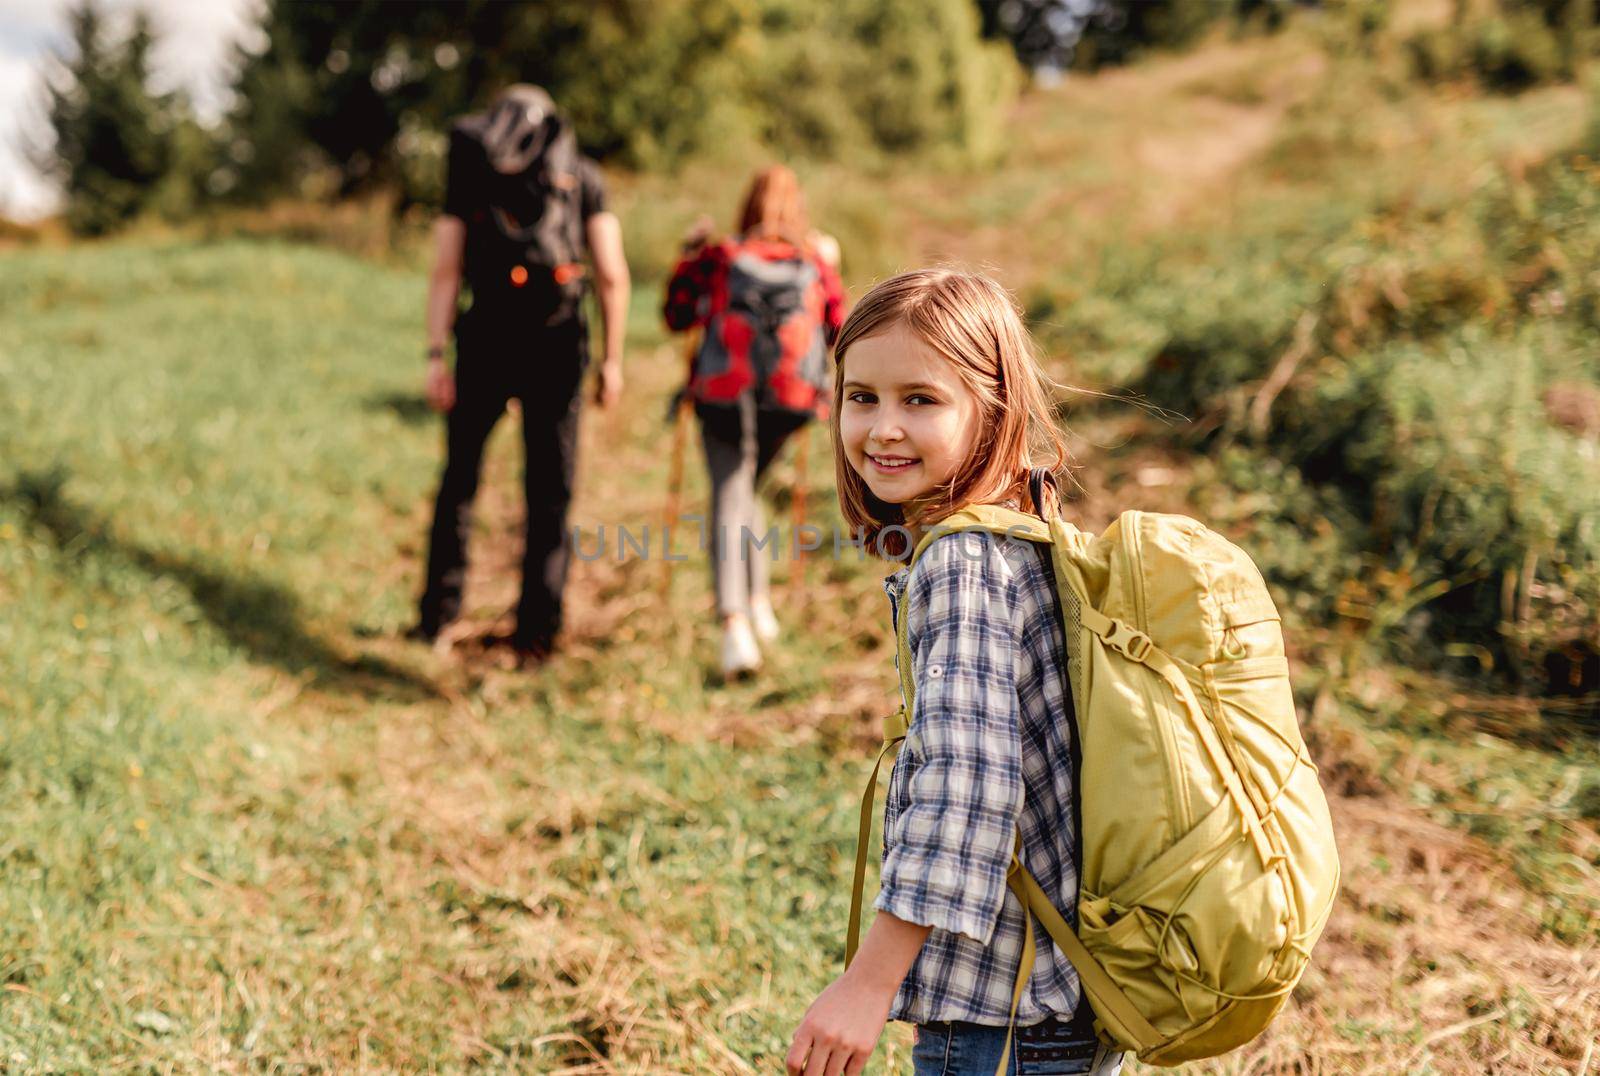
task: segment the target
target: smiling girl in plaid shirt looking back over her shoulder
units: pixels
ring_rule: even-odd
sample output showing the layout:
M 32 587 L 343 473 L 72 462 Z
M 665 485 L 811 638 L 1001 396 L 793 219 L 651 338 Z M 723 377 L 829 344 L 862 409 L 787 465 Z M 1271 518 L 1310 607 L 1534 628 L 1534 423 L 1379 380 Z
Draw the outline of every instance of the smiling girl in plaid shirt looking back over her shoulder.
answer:
M 965 272 L 867 293 L 838 336 L 835 415 L 838 500 L 880 556 L 904 557 L 907 532 L 915 543 L 962 506 L 1030 504 L 1029 469 L 1067 455 L 1014 301 Z M 886 1020 L 917 1025 L 917 1076 L 994 1076 L 1005 1057 L 1026 914 L 1005 881 L 1019 829 L 1029 871 L 1058 908 L 1077 906 L 1075 746 L 1046 557 L 952 533 L 885 583 L 909 618 L 915 698 L 877 917 L 795 1031 L 794 1076 L 859 1073 Z M 1077 974 L 1035 938 L 1005 1071 L 1115 1073 Z

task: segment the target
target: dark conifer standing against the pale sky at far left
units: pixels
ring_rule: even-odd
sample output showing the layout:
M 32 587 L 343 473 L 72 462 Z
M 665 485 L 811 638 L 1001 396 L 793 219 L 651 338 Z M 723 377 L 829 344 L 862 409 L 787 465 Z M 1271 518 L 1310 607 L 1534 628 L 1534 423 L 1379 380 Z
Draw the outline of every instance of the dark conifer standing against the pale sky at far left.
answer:
M 163 199 L 179 128 L 192 120 L 179 94 L 149 90 L 155 38 L 146 13 L 133 16 L 120 40 L 107 34 L 94 0 L 74 6 L 67 19 L 74 53 L 61 58 L 46 90 L 56 143 L 37 157 L 61 181 L 67 226 L 99 235 Z

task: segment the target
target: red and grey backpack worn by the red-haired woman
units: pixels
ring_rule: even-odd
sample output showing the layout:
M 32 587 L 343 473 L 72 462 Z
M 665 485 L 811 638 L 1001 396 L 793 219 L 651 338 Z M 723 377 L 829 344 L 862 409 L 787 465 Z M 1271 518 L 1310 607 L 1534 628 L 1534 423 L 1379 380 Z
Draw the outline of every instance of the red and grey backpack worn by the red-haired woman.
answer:
M 762 239 L 726 243 L 725 259 L 725 295 L 714 296 L 690 394 L 733 405 L 754 391 L 760 410 L 818 412 L 832 371 L 816 263 L 790 243 Z

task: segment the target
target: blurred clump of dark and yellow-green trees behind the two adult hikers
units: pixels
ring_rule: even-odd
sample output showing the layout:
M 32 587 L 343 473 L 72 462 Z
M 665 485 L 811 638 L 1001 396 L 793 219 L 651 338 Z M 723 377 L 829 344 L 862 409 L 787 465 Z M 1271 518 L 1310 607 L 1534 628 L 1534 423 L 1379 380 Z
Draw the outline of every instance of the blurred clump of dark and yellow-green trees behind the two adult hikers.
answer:
M 238 192 L 430 197 L 453 115 L 547 88 L 584 149 L 672 168 L 730 146 L 984 149 L 1014 64 L 971 0 L 270 0 L 242 56 Z

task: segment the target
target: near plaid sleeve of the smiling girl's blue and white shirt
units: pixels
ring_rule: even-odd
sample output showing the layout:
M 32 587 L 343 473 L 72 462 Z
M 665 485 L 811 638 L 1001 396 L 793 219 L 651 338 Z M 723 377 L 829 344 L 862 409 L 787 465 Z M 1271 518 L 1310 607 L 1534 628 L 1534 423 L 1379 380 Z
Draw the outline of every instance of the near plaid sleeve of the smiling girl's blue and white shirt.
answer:
M 1005 905 L 1022 809 L 1016 586 L 990 535 L 950 535 L 917 560 L 906 602 L 912 769 L 877 908 L 979 945 Z

